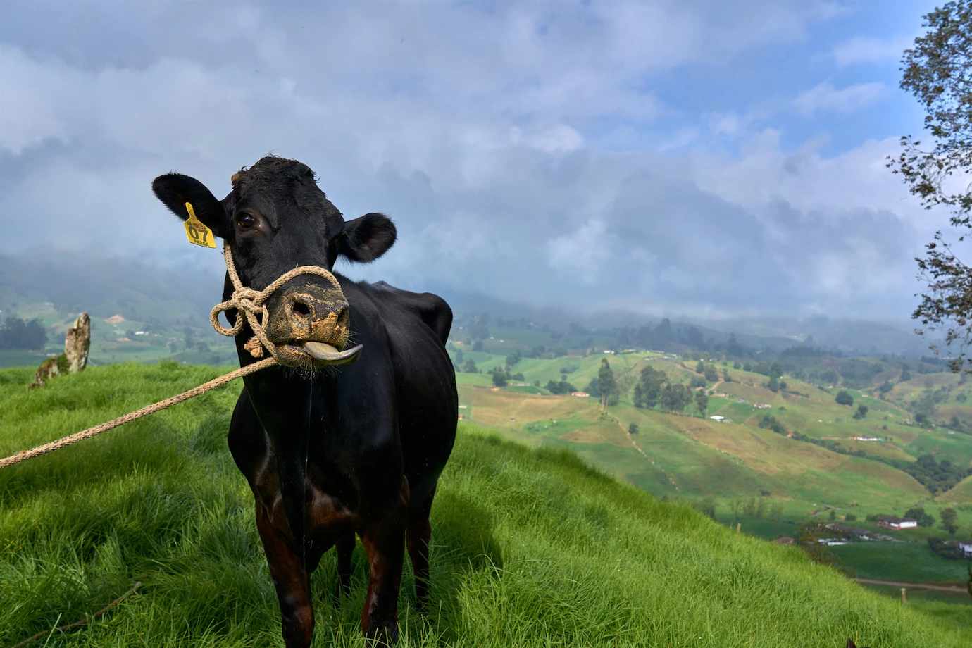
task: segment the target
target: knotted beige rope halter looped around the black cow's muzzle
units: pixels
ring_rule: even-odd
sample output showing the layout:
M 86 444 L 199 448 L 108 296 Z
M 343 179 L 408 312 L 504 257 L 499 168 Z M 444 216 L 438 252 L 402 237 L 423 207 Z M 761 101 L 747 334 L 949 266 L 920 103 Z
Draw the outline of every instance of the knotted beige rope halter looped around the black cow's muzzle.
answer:
M 226 274 L 229 275 L 229 281 L 233 285 L 233 293 L 229 296 L 229 299 L 213 307 L 209 314 L 209 324 L 212 324 L 220 335 L 234 337 L 243 330 L 244 322 L 248 322 L 250 328 L 253 329 L 254 336 L 243 345 L 243 348 L 250 352 L 250 355 L 254 358 L 262 358 L 265 349 L 274 359 L 280 359 L 277 346 L 266 338 L 266 327 L 270 323 L 270 313 L 266 309 L 265 303 L 270 295 L 284 284 L 298 275 L 317 275 L 330 281 L 335 289 L 341 290 L 337 278 L 329 270 L 318 265 L 301 265 L 280 275 L 263 290 L 254 290 L 243 286 L 243 282 L 240 281 L 228 243 L 223 247 L 223 256 L 226 258 Z M 220 313 L 233 309 L 237 311 L 236 323 L 226 328 L 226 326 L 220 324 Z M 245 316 L 246 319 L 244 320 L 242 316 Z

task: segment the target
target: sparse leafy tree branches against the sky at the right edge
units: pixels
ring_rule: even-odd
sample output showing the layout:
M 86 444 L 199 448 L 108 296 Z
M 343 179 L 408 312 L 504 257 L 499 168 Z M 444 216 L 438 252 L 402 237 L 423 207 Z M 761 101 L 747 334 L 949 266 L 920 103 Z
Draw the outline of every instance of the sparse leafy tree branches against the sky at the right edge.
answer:
M 972 0 L 951 0 L 924 17 L 922 26 L 927 32 L 915 39 L 914 48 L 904 51 L 900 85 L 924 108 L 924 128 L 933 146 L 922 148 L 919 140 L 907 135 L 901 138 L 901 153 L 887 161 L 925 209 L 951 209 L 950 222 L 959 232 L 958 241 L 972 233 L 972 186 L 954 182 L 972 170 L 970 24 Z M 925 250 L 924 258 L 915 260 L 927 288 L 912 318 L 927 330 L 947 328 L 946 345 L 958 343 L 957 355 L 949 365 L 960 371 L 972 344 L 972 268 L 953 254 L 941 230 Z M 930 346 L 937 354 L 936 345 Z

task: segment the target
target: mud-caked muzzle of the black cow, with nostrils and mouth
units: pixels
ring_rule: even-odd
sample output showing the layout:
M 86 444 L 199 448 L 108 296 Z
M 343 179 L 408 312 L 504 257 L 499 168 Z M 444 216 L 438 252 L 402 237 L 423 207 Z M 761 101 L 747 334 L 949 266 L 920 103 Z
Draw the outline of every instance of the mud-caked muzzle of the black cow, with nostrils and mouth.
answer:
M 266 302 L 266 336 L 291 366 L 320 364 L 343 350 L 351 333 L 344 292 L 324 279 L 295 278 Z M 331 362 L 328 362 L 331 363 Z

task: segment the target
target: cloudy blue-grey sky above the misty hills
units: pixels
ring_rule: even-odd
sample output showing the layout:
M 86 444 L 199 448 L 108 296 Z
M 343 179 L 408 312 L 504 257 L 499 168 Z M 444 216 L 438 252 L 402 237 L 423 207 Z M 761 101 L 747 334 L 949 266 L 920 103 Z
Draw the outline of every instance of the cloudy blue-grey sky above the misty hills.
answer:
M 591 311 L 894 319 L 948 214 L 885 168 L 921 0 L 0 3 L 0 253 L 222 284 L 151 191 L 266 153 L 399 241 L 354 277 Z M 218 289 L 217 289 L 218 290 Z M 214 300 L 219 294 L 214 292 Z

